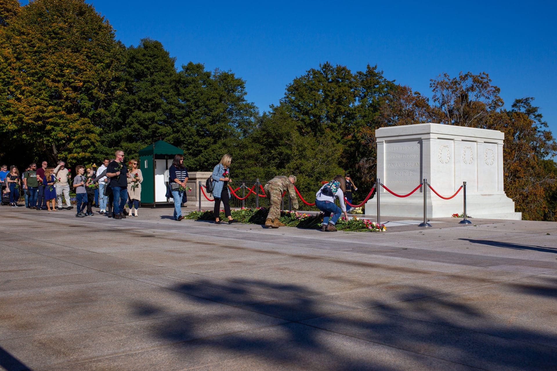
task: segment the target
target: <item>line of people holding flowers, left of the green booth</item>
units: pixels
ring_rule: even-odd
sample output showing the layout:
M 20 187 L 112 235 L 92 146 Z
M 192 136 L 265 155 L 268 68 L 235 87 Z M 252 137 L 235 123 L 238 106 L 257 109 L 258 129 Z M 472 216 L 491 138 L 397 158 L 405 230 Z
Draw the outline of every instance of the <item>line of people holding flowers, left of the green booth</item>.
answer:
M 96 171 L 93 167 L 76 166 L 74 177 L 63 161 L 59 161 L 56 167 L 48 167 L 48 162 L 42 161 L 39 169 L 33 162 L 21 176 L 16 166 L 11 166 L 8 171 L 7 165 L 3 165 L 0 169 L 3 200 L 9 197 L 9 204 L 18 207 L 21 192 L 28 209 L 71 210 L 74 206 L 70 200 L 70 189 L 73 189 L 76 193 L 76 217 L 94 215 L 92 206 L 96 197 L 98 201 L 95 204 L 101 215 L 124 219 L 125 204 L 128 202 L 128 216 L 138 216 L 143 175 L 137 160 L 130 160 L 128 166 L 124 164 L 123 151 L 117 151 L 115 159 L 105 158 Z M 62 201 L 65 201 L 65 207 Z

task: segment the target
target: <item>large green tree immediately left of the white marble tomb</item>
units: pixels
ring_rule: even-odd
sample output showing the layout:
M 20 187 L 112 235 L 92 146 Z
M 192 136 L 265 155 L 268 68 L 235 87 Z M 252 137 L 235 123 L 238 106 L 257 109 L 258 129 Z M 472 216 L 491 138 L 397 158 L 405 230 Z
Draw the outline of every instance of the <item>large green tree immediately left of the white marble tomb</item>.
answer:
M 295 78 L 279 107 L 307 142 L 336 159 L 330 165 L 338 169 L 336 174 L 342 174 L 342 169 L 353 172 L 353 179 L 365 189 L 372 185 L 367 175 L 374 169 L 361 166 L 369 165 L 367 160 L 375 157 L 370 132 L 378 127 L 380 107 L 394 87 L 377 66 L 368 65 L 365 71 L 352 73 L 345 66 L 326 62 Z M 276 107 L 271 108 L 275 114 Z M 309 159 L 309 164 L 317 165 L 317 160 Z

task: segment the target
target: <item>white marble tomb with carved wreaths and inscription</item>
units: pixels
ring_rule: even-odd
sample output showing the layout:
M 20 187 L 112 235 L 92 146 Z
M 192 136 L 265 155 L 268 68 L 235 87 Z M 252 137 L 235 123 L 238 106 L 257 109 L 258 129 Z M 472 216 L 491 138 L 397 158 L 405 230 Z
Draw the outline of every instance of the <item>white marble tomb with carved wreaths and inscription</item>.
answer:
M 504 133 L 472 127 L 419 123 L 382 127 L 377 138 L 377 177 L 397 194 L 408 194 L 422 179 L 444 197 L 466 181 L 467 214 L 486 219 L 520 220 L 503 190 Z M 411 196 L 393 196 L 380 187 L 381 214 L 423 217 L 423 187 Z M 463 192 L 451 200 L 427 190 L 427 216 L 449 217 L 463 211 Z M 377 213 L 377 196 L 365 204 Z

